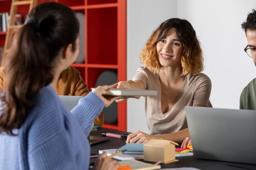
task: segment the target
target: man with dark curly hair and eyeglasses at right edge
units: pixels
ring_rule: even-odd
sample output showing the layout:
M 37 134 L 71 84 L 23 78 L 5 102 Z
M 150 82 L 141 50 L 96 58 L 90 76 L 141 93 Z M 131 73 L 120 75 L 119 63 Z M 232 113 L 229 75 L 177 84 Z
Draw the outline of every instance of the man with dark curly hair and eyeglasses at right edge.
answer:
M 247 20 L 243 22 L 242 29 L 248 41 L 244 51 L 252 57 L 256 66 L 256 10 L 249 13 Z M 240 109 L 256 110 L 256 78 L 243 89 L 240 96 Z

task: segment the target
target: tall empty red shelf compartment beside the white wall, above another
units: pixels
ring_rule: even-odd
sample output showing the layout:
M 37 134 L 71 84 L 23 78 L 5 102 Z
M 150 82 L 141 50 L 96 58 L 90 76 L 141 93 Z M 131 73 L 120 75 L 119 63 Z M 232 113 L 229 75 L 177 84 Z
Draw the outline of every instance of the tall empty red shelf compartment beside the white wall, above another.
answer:
M 88 64 L 117 64 L 117 7 L 87 9 Z M 89 57 L 88 57 L 89 56 Z

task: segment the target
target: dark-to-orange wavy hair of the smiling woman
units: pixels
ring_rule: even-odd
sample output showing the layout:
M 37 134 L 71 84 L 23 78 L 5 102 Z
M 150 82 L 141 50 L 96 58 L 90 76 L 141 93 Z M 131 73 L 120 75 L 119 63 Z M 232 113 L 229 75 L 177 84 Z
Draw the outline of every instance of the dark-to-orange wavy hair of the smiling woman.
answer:
M 200 42 L 196 37 L 195 30 L 187 21 L 179 18 L 170 18 L 164 21 L 153 31 L 146 42 L 145 48 L 141 51 L 140 61 L 144 68 L 148 68 L 155 73 L 162 65 L 157 57 L 156 44 L 162 38 L 166 37 L 168 31 L 175 28 L 177 38 L 182 43 L 183 50 L 181 56 L 181 75 L 196 75 L 203 71 L 203 56 Z

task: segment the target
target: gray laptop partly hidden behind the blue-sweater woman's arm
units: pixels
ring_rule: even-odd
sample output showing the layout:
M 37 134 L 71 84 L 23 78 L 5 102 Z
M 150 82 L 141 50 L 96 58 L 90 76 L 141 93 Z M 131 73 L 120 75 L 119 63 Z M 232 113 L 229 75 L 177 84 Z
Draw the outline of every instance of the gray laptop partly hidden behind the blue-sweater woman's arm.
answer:
M 59 95 L 58 97 L 61 99 L 61 102 L 67 107 L 68 110 L 72 110 L 72 108 L 74 108 L 78 104 L 79 99 L 81 99 L 83 96 Z M 90 145 L 92 145 L 107 141 L 110 139 L 110 137 L 89 136 L 88 139 L 90 139 Z

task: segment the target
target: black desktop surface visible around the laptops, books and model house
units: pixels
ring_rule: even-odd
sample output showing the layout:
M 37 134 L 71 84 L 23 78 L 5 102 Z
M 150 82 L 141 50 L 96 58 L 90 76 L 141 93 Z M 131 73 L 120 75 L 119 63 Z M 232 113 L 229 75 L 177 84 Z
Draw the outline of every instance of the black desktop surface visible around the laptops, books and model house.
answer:
M 112 132 L 116 134 L 126 134 L 126 132 L 99 128 L 99 130 L 92 131 L 91 136 L 102 136 L 101 133 Z M 104 141 L 99 144 L 91 145 L 91 152 L 98 153 L 103 149 L 117 149 L 124 146 L 126 138 L 111 138 L 109 141 Z M 92 163 L 96 158 L 91 158 Z M 173 163 L 161 163 L 162 168 L 180 168 L 180 167 L 193 167 L 201 170 L 256 170 L 256 165 L 245 163 L 234 163 L 224 161 L 213 161 L 208 159 L 196 159 L 193 156 L 177 157 L 179 161 Z M 255 158 L 256 161 L 256 158 Z M 152 162 L 150 162 L 152 163 Z

